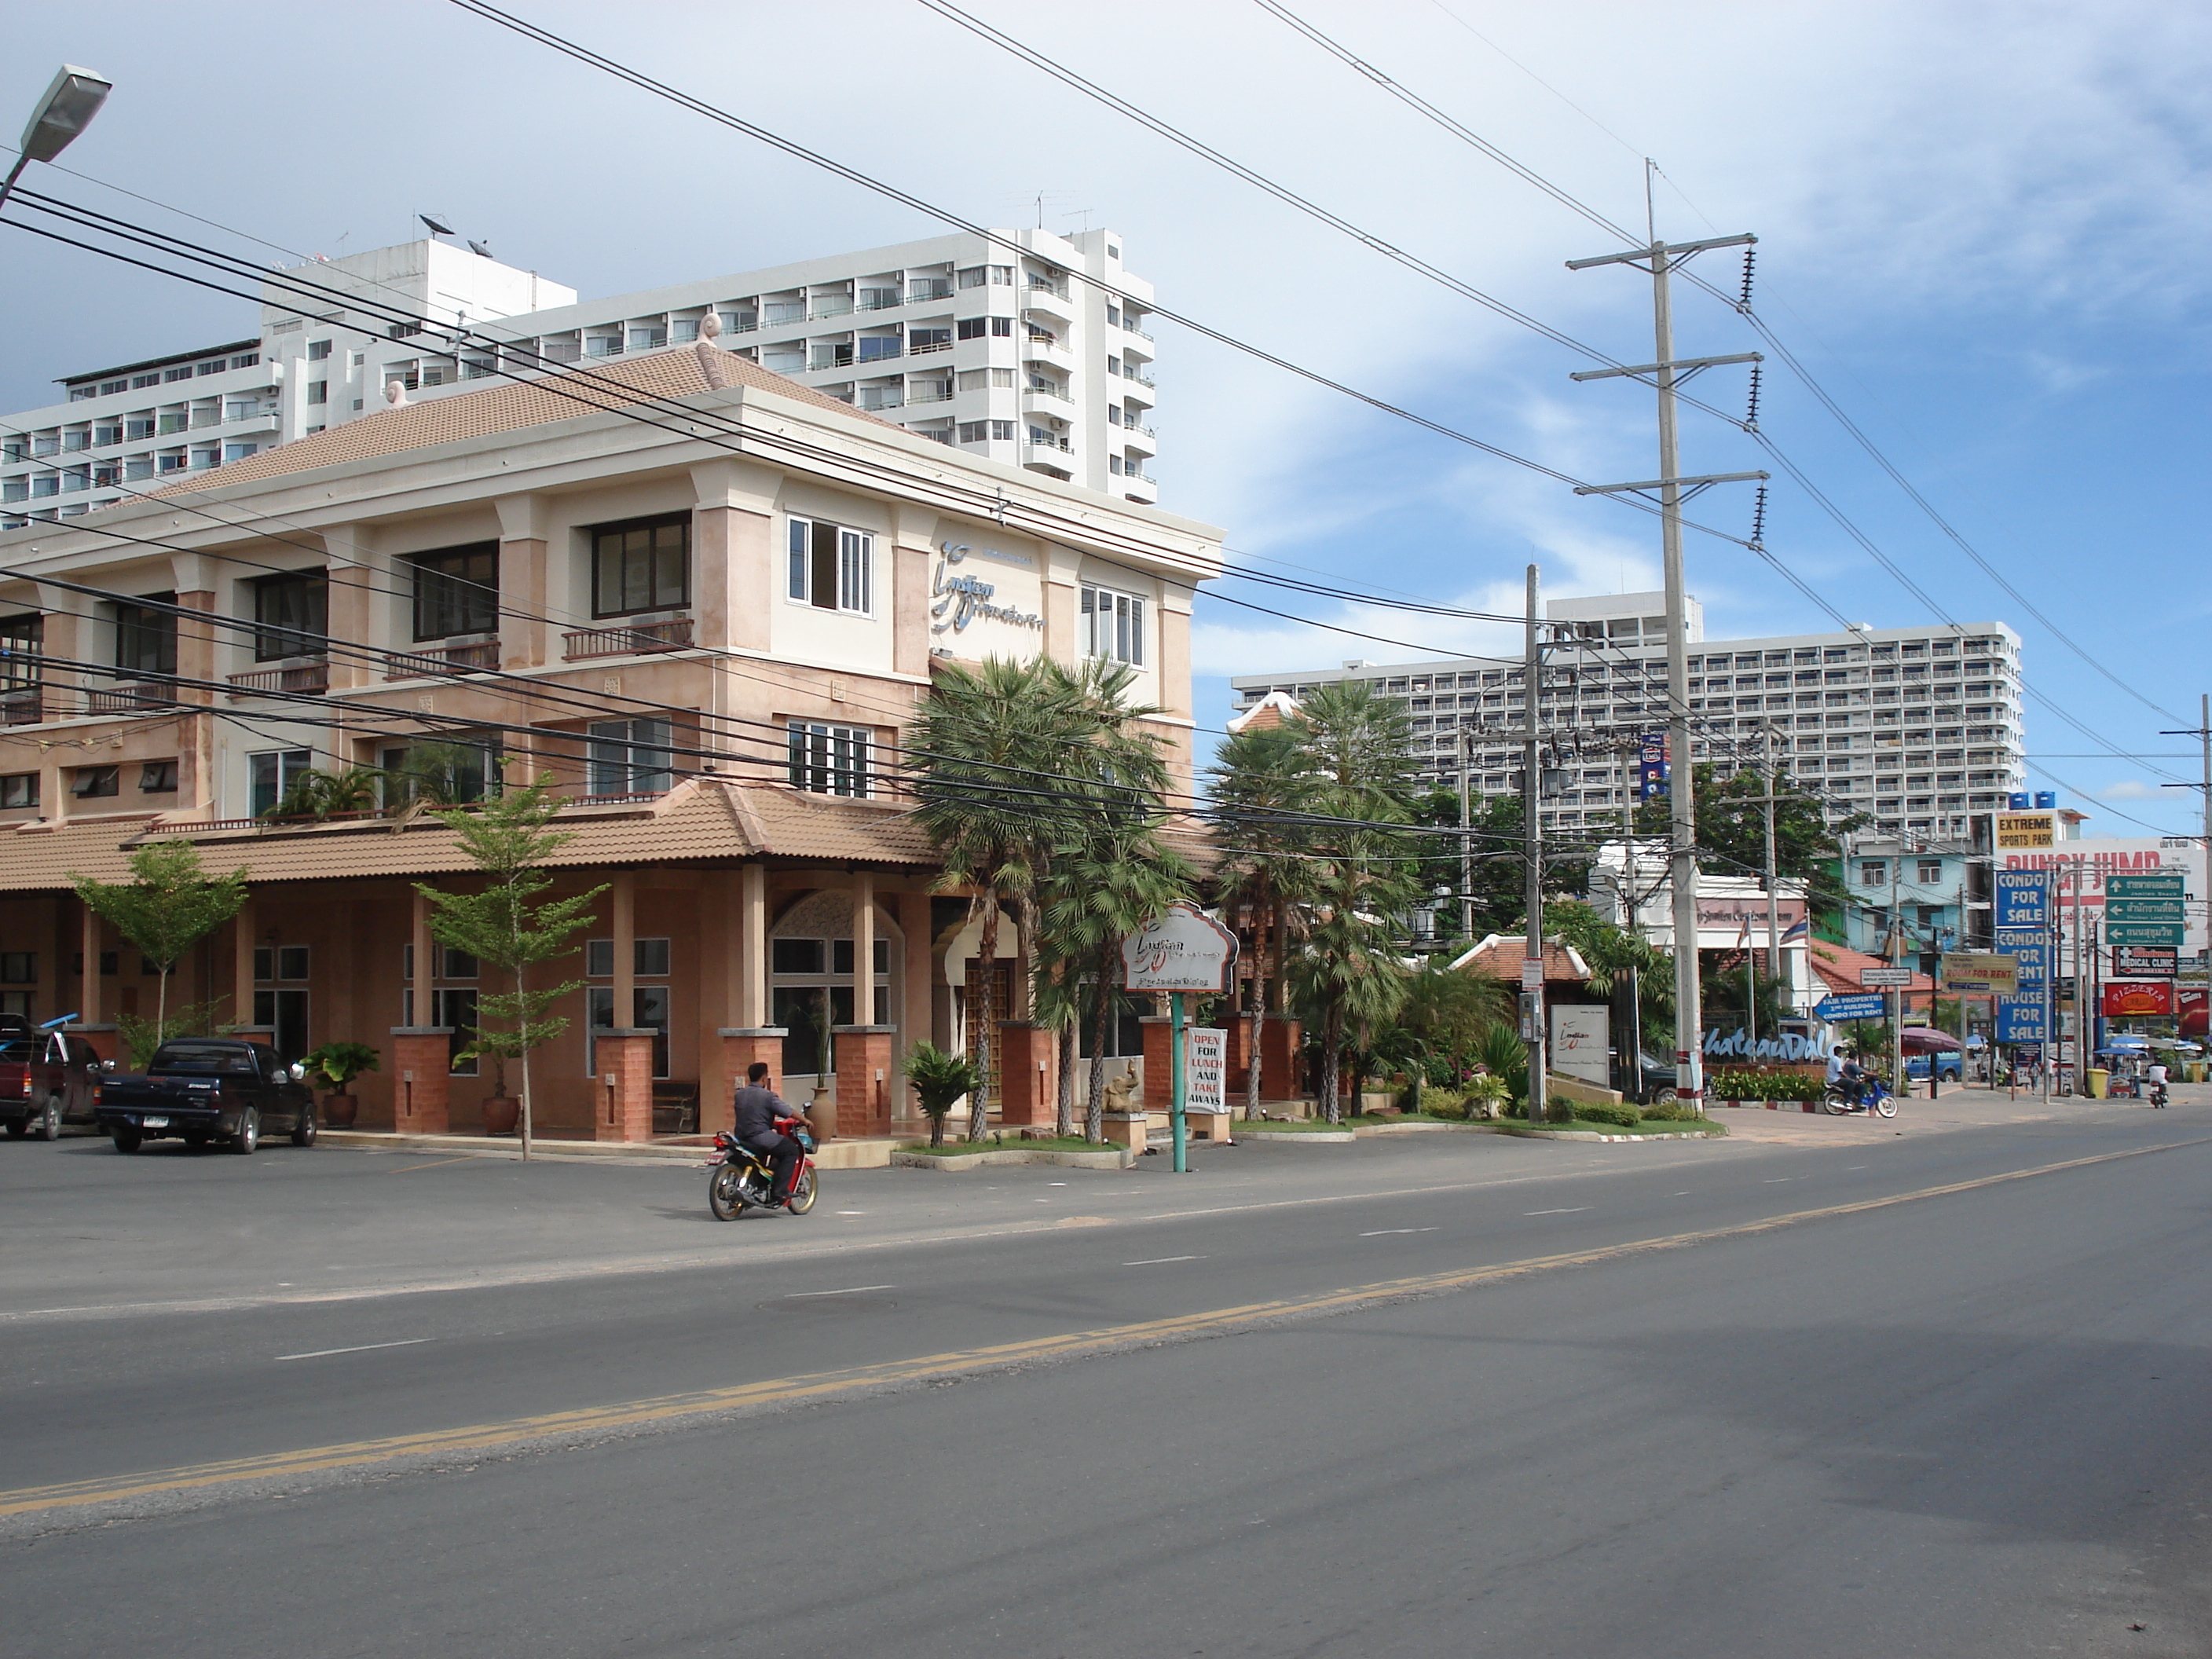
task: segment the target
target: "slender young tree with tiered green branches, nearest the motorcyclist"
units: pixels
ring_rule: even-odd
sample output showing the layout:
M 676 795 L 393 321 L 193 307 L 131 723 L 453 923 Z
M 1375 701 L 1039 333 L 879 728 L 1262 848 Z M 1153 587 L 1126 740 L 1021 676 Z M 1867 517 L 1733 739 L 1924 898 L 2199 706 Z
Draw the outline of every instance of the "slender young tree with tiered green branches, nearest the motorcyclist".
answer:
M 533 987 L 531 969 L 582 949 L 575 933 L 591 927 L 591 907 L 606 891 L 593 887 L 568 898 L 540 898 L 551 885 L 544 860 L 575 841 L 573 832 L 549 830 L 560 812 L 551 779 L 504 790 L 476 807 L 447 807 L 438 816 L 460 836 L 460 849 L 482 872 L 484 887 L 451 894 L 429 883 L 416 891 L 431 905 L 429 931 L 440 945 L 467 951 L 509 975 L 513 991 L 478 1002 L 473 1048 L 522 1062 L 522 1157 L 531 1155 L 531 1051 L 568 1029 L 566 1015 L 551 1013 L 582 980 Z M 429 964 L 416 964 L 416 984 L 429 984 Z M 420 1018 L 418 1009 L 418 1018 Z M 617 1009 L 626 1018 L 626 1009 Z M 487 1024 L 489 1020 L 489 1024 Z

